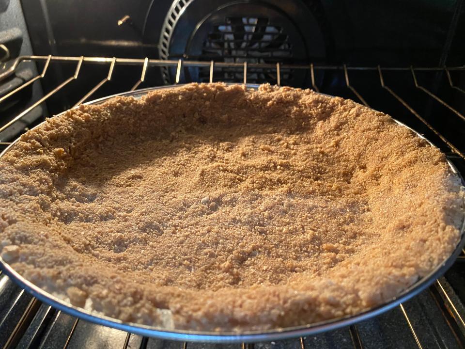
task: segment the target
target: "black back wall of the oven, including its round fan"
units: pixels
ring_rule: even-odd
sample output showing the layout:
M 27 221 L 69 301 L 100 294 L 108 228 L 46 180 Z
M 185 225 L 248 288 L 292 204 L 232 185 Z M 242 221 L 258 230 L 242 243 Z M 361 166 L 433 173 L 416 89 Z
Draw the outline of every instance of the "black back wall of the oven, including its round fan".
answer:
M 21 4 L 38 55 L 438 66 L 464 63 L 462 2 L 22 0 Z M 71 76 L 74 68 L 53 64 L 54 74 L 47 74 L 44 90 Z M 49 111 L 72 106 L 107 72 L 108 66 L 84 64 L 86 79 L 73 81 L 50 98 Z M 93 97 L 128 90 L 140 73 L 140 66 L 117 66 L 112 81 Z M 140 87 L 172 83 L 173 75 L 172 70 L 152 67 Z M 185 68 L 182 82 L 205 81 L 207 76 L 205 70 Z M 241 70 L 216 71 L 215 79 L 242 81 Z M 316 70 L 316 79 L 325 91 L 345 93 L 340 72 L 323 75 Z M 373 79 L 361 79 L 357 87 L 370 96 Z M 438 76 L 423 83 L 433 86 L 444 79 Z M 456 79 L 458 84 L 464 82 L 460 74 Z M 308 87 L 310 74 L 283 71 L 281 80 Z M 276 73 L 251 72 L 248 81 L 273 83 Z

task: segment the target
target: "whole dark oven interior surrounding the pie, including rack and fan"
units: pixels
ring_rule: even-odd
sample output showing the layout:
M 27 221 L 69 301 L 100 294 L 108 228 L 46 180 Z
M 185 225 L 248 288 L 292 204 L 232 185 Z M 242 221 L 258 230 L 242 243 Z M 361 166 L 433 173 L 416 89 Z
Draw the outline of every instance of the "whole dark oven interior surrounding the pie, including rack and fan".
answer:
M 0 150 L 60 111 L 163 84 L 288 85 L 351 98 L 437 145 L 465 174 L 464 1 L 0 0 Z M 2 348 L 463 348 L 465 255 L 369 320 L 285 341 L 208 344 L 95 325 L 0 271 Z

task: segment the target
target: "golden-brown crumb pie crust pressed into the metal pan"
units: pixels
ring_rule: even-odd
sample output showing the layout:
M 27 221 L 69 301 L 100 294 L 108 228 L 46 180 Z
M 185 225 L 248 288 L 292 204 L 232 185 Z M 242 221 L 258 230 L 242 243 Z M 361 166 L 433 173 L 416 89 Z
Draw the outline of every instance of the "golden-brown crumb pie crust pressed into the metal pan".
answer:
M 454 250 L 462 203 L 444 155 L 386 114 L 189 84 L 21 136 L 0 160 L 0 247 L 35 285 L 110 317 L 266 330 L 395 297 Z

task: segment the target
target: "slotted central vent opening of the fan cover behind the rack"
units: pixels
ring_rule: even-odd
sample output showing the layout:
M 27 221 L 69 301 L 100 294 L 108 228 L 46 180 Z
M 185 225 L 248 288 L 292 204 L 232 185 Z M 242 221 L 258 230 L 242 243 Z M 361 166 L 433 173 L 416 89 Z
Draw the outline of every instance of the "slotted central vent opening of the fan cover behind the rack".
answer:
M 280 26 L 270 23 L 264 17 L 227 17 L 224 23 L 213 26 L 203 42 L 202 59 L 227 63 L 278 63 L 293 57 L 289 35 Z M 281 83 L 292 79 L 290 69 L 281 69 Z M 199 79 L 208 82 L 209 68 L 201 68 Z M 215 68 L 215 80 L 242 82 L 242 68 Z M 250 83 L 274 83 L 275 69 L 248 69 Z

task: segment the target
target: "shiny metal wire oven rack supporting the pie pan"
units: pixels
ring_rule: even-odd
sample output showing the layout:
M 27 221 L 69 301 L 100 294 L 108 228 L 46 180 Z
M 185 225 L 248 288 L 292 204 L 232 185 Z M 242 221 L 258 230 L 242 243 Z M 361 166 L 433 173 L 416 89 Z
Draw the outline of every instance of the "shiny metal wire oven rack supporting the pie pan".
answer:
M 225 63 L 225 62 L 214 62 L 214 61 L 190 61 L 190 60 L 157 60 L 157 59 L 149 59 L 148 57 L 145 57 L 144 59 L 132 59 L 132 58 L 116 58 L 116 57 L 84 57 L 84 56 L 20 56 L 16 58 L 13 62 L 9 63 L 8 66 L 4 67 L 3 70 L 0 70 L 0 81 L 2 79 L 5 79 L 12 74 L 15 73 L 18 65 L 22 62 L 42 62 L 44 64 L 44 68 L 41 72 L 41 74 L 38 74 L 37 76 L 33 77 L 29 81 L 25 82 L 24 84 L 20 85 L 13 91 L 7 93 L 6 95 L 3 95 L 0 97 L 0 103 L 11 97 L 12 95 L 15 95 L 19 91 L 23 90 L 27 86 L 31 85 L 37 80 L 40 80 L 44 78 L 47 74 L 48 67 L 50 63 L 52 62 L 61 62 L 61 63 L 75 63 L 76 64 L 76 69 L 73 75 L 71 75 L 69 78 L 65 79 L 62 83 L 60 83 L 58 86 L 53 88 L 51 91 L 49 91 L 47 94 L 42 96 L 39 100 L 34 102 L 30 107 L 26 108 L 24 111 L 21 111 L 19 114 L 17 114 L 13 119 L 8 121 L 6 124 L 2 125 L 0 127 L 0 133 L 4 131 L 6 128 L 12 126 L 16 121 L 20 120 L 23 118 L 26 114 L 28 114 L 30 111 L 32 111 L 34 108 L 39 106 L 41 103 L 45 102 L 50 96 L 58 93 L 60 90 L 62 90 L 66 85 L 68 85 L 71 81 L 78 79 L 80 76 L 80 70 L 81 66 L 83 63 L 93 63 L 93 64 L 107 64 L 109 66 L 108 70 L 108 75 L 104 77 L 100 82 L 98 82 L 89 92 L 87 92 L 84 96 L 82 96 L 78 102 L 73 106 L 76 107 L 79 104 L 85 102 L 88 100 L 99 88 L 101 88 L 105 83 L 110 81 L 113 76 L 113 71 L 115 68 L 115 65 L 139 65 L 141 67 L 141 75 L 138 80 L 135 81 L 134 85 L 130 89 L 130 91 L 136 90 L 141 83 L 144 82 L 146 78 L 146 72 L 147 68 L 151 66 L 159 66 L 159 67 L 175 67 L 176 68 L 176 74 L 175 74 L 175 83 L 178 84 L 180 82 L 180 76 L 181 76 L 181 70 L 184 66 L 190 66 L 190 67 L 207 67 L 210 69 L 210 75 L 209 75 L 209 80 L 210 82 L 213 82 L 213 73 L 215 67 L 229 67 L 229 68 L 238 68 L 241 69 L 243 72 L 243 82 L 244 84 L 247 83 L 247 74 L 248 74 L 248 69 L 251 68 L 266 68 L 266 69 L 275 69 L 276 70 L 276 84 L 281 85 L 280 81 L 280 73 L 281 69 L 307 69 L 310 70 L 310 77 L 311 77 L 311 86 L 313 90 L 320 92 L 319 87 L 315 83 L 315 71 L 317 70 L 342 70 L 344 73 L 344 78 L 345 78 L 345 86 L 348 90 L 351 91 L 351 93 L 358 99 L 362 104 L 365 106 L 369 107 L 369 104 L 366 102 L 366 100 L 360 95 L 360 93 L 356 90 L 356 88 L 351 85 L 350 79 L 349 79 L 349 71 L 352 70 L 366 70 L 366 71 L 375 71 L 378 73 L 379 76 L 379 83 L 380 86 L 385 89 L 390 95 L 392 95 L 400 104 L 403 105 L 404 108 L 406 108 L 411 114 L 413 114 L 424 126 L 426 126 L 428 129 L 430 129 L 441 141 L 443 141 L 448 147 L 450 152 L 447 153 L 448 159 L 463 159 L 465 160 L 465 155 L 464 153 L 459 150 L 454 144 L 452 144 L 443 134 L 441 134 L 435 127 L 433 127 L 428 121 L 426 121 L 420 114 L 418 114 L 417 111 L 415 111 L 400 95 L 398 95 L 395 91 L 393 91 L 389 86 L 384 81 L 384 76 L 383 76 L 383 71 L 409 71 L 412 75 L 412 79 L 415 84 L 415 88 L 418 90 L 421 90 L 424 94 L 428 95 L 430 98 L 436 100 L 440 104 L 442 104 L 445 108 L 449 109 L 453 114 L 455 114 L 458 118 L 462 119 L 465 121 L 465 116 L 460 112 L 457 111 L 453 106 L 449 105 L 446 101 L 441 99 L 438 95 L 434 94 L 431 90 L 427 89 L 426 87 L 420 85 L 417 80 L 417 71 L 430 71 L 430 72 L 445 72 L 447 74 L 447 78 L 449 81 L 450 88 L 455 89 L 459 91 L 460 93 L 465 95 L 465 90 L 462 89 L 461 87 L 458 87 L 454 85 L 453 79 L 451 76 L 451 71 L 465 71 L 465 65 L 464 66 L 449 66 L 449 67 L 413 67 L 413 66 L 408 66 L 408 67 L 380 67 L 379 65 L 377 66 L 347 66 L 346 64 L 342 65 L 314 65 L 313 63 L 310 63 L 308 65 L 302 65 L 302 64 L 282 64 L 282 63 L 276 63 L 276 64 L 268 64 L 268 63 Z M 0 140 L 1 140 L 1 134 L 0 134 Z M 0 145 L 9 145 L 9 142 L 0 142 Z M 459 262 L 465 261 L 465 251 L 462 250 L 462 254 L 458 257 Z M 6 275 L 2 275 L 2 272 L 0 270 L 0 277 L 6 278 Z M 434 286 L 431 286 L 430 292 L 434 294 L 435 299 L 438 300 L 437 305 L 441 309 L 441 311 L 444 313 L 444 316 L 446 319 L 449 319 L 451 322 L 454 322 L 454 324 L 449 324 L 450 329 L 452 331 L 457 332 L 459 336 L 465 335 L 465 314 L 462 311 L 463 308 L 461 307 L 460 304 L 456 303 L 457 296 L 455 293 L 451 290 L 451 287 L 447 283 L 447 281 L 444 278 L 440 278 L 435 281 Z M 20 296 L 25 294 L 25 291 L 22 290 L 20 292 Z M 18 296 L 18 299 L 19 297 Z M 14 305 L 14 304 L 13 304 Z M 41 302 L 38 301 L 37 299 L 31 297 L 31 300 L 26 306 L 26 309 L 22 313 L 21 317 L 19 318 L 19 321 L 17 322 L 15 328 L 11 332 L 10 336 L 8 337 L 8 340 L 3 348 L 14 348 L 16 344 L 20 341 L 21 337 L 25 333 L 26 329 L 28 326 L 31 324 L 31 322 L 34 319 L 34 316 L 37 314 L 39 307 L 41 306 Z M 405 307 L 403 304 L 399 305 L 399 309 L 403 314 L 403 317 L 405 319 L 405 326 L 408 327 L 410 333 L 412 334 L 415 342 L 418 345 L 418 348 L 422 349 L 425 348 L 422 343 L 420 342 L 417 332 L 412 324 L 412 321 L 407 314 L 407 311 L 405 310 Z M 50 309 L 48 309 L 50 310 Z M 10 309 L 10 311 L 13 311 L 13 306 Z M 60 312 L 58 312 L 59 314 Z M 78 325 L 79 319 L 76 318 L 74 320 L 73 325 L 71 326 L 71 329 L 69 331 L 68 337 L 66 339 L 64 348 L 67 348 L 69 345 L 69 342 L 75 333 L 76 327 Z M 353 344 L 354 348 L 364 348 L 362 339 L 360 337 L 360 333 L 357 330 L 357 325 L 351 325 L 349 326 L 349 334 L 350 338 Z M 456 335 L 457 338 L 459 336 Z M 127 333 L 125 340 L 124 340 L 124 345 L 123 348 L 127 348 L 129 341 L 131 338 L 131 333 Z M 140 347 L 144 348 L 144 343 L 145 345 L 147 344 L 147 338 L 143 337 Z M 298 338 L 298 342 L 300 343 L 300 348 L 305 349 L 305 341 L 304 338 L 300 337 Z M 464 342 L 462 342 L 464 344 Z M 183 349 L 187 348 L 187 342 L 183 343 Z M 241 345 L 242 349 L 253 349 L 253 344 L 245 344 L 242 343 Z

